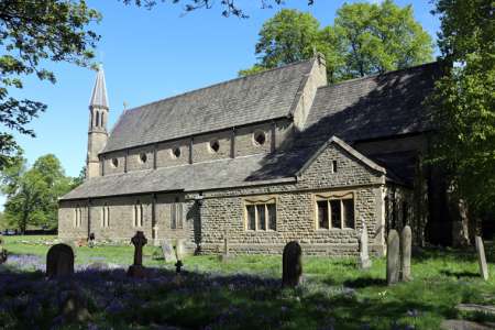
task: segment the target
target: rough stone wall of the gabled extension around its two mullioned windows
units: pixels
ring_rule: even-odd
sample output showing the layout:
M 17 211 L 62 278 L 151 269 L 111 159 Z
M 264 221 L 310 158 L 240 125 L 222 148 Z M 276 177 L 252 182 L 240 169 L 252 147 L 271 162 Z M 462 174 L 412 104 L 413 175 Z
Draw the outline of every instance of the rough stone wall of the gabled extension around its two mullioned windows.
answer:
M 338 170 L 330 164 L 337 161 Z M 306 169 L 298 183 L 226 189 L 205 194 L 201 206 L 201 251 L 221 251 L 223 235 L 232 252 L 282 253 L 290 240 L 301 242 L 305 253 L 358 254 L 358 230 L 366 222 L 372 251 L 384 253 L 384 178 L 346 152 L 330 145 Z M 354 198 L 354 229 L 317 229 L 316 197 Z M 276 230 L 246 230 L 245 200 L 276 198 Z

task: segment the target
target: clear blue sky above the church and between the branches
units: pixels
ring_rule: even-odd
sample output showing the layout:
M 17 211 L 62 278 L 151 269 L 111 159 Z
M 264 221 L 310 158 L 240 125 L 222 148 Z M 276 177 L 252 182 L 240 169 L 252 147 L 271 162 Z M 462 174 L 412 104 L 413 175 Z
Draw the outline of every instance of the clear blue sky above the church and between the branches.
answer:
M 133 108 L 237 77 L 239 69 L 255 62 L 257 32 L 280 8 L 260 9 L 261 1 L 240 0 L 250 14 L 250 19 L 240 20 L 222 18 L 218 4 L 184 15 L 182 7 L 170 1 L 152 11 L 125 7 L 118 0 L 87 2 L 103 15 L 95 30 L 101 35 L 97 54 L 106 73 L 110 127 L 122 113 L 124 101 Z M 285 2 L 283 8 L 309 11 L 328 25 L 344 1 L 316 0 L 312 7 L 306 6 L 306 0 Z M 417 21 L 436 36 L 439 22 L 430 14 L 429 0 L 396 2 L 413 4 Z M 51 64 L 48 68 L 57 76 L 56 85 L 29 78 L 24 89 L 13 92 L 48 106 L 47 112 L 29 125 L 36 132 L 35 139 L 15 136 L 30 164 L 53 153 L 68 175 L 77 176 L 86 157 L 88 101 L 96 74 L 67 64 Z

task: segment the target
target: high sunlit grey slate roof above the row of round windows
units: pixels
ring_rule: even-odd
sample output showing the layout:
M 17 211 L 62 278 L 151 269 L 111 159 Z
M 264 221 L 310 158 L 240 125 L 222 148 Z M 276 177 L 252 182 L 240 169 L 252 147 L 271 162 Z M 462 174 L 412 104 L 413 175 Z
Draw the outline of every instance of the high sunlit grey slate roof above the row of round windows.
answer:
M 103 153 L 286 117 L 315 59 L 125 111 Z

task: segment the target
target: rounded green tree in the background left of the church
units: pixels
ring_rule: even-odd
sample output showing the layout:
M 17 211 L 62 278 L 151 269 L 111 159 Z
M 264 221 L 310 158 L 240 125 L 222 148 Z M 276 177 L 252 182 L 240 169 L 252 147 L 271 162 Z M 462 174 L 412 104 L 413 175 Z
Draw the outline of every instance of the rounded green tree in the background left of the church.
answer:
M 52 154 L 37 158 L 28 170 L 25 160 L 19 163 L 22 165 L 2 172 L 6 220 L 22 232 L 28 226 L 56 228 L 57 200 L 73 188 L 73 178 L 65 176 L 61 162 Z

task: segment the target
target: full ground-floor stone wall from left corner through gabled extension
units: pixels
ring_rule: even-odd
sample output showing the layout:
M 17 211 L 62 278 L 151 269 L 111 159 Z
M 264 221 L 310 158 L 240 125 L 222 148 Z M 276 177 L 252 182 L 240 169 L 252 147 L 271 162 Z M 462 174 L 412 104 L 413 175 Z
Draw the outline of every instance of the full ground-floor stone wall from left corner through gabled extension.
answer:
M 337 162 L 337 172 L 332 169 L 333 161 Z M 142 230 L 151 242 L 153 239 L 185 239 L 191 252 L 201 253 L 221 252 L 226 235 L 232 253 L 282 253 L 288 241 L 298 240 L 307 254 L 342 256 L 358 253 L 358 230 L 365 221 L 372 251 L 383 254 L 385 190 L 383 174 L 330 144 L 297 183 L 204 191 L 201 201 L 197 200 L 197 193 L 186 196 L 157 194 L 155 231 L 152 226 L 153 195 L 95 199 L 90 207 L 89 231 L 96 234 L 97 240 L 128 242 L 135 231 Z M 354 200 L 354 229 L 318 229 L 316 199 L 350 194 Z M 275 198 L 276 230 L 248 230 L 245 202 L 253 198 Z M 142 227 L 134 226 L 138 201 L 143 208 Z M 177 201 L 183 204 L 183 227 L 173 229 L 170 208 Z M 74 227 L 76 205 L 79 204 L 61 202 L 61 238 L 87 238 L 87 213 L 82 216 L 82 226 Z M 110 210 L 108 228 L 102 226 L 105 207 Z

